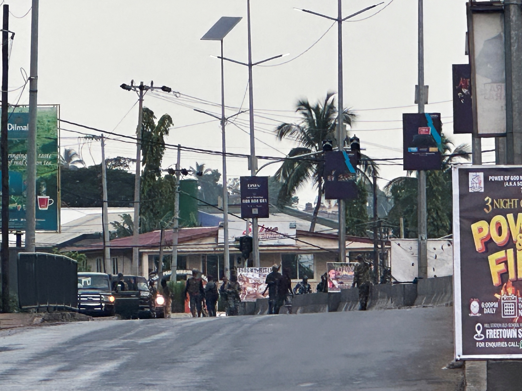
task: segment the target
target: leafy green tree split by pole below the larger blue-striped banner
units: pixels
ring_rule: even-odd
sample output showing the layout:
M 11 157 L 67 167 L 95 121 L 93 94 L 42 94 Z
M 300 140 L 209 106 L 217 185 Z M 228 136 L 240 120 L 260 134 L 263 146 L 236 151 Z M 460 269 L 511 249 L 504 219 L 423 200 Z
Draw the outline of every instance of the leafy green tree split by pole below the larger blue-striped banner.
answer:
M 440 238 L 452 233 L 452 173 L 451 166 L 459 158 L 470 159 L 469 146 L 461 144 L 450 152 L 453 143 L 442 135 L 443 160 L 441 170 L 426 171 L 426 209 L 428 212 L 428 237 Z M 388 182 L 394 206 L 389 211 L 388 221 L 395 226 L 394 235 L 399 236 L 399 218 L 404 218 L 405 237 L 416 238 L 417 234 L 417 178 L 398 177 Z

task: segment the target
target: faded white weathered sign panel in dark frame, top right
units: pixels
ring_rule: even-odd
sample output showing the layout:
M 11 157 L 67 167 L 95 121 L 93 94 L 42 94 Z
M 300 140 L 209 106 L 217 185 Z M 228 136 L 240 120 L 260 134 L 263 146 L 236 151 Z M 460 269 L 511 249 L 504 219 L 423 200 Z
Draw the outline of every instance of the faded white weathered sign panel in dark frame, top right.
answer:
M 502 5 L 468 3 L 469 59 L 479 137 L 505 136 L 506 71 Z M 486 9 L 487 8 L 487 9 Z

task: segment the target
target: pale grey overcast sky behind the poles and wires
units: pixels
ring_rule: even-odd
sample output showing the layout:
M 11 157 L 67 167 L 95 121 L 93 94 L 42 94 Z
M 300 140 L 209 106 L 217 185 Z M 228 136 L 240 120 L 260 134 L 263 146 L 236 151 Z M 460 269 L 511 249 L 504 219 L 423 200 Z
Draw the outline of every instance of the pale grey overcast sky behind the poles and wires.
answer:
M 344 100 L 357 113 L 350 133 L 361 139 L 361 147 L 373 158 L 402 157 L 402 113 L 414 113 L 414 86 L 417 84 L 417 0 L 384 0 L 383 5 L 343 23 Z M 10 0 L 9 9 L 21 17 L 30 0 Z M 375 0 L 343 2 L 349 15 Z M 382 9 L 384 6 L 386 8 Z M 332 21 L 297 12 L 305 8 L 336 16 L 335 0 L 251 0 L 253 61 L 278 54 L 290 56 L 272 60 L 277 65 L 312 46 L 332 25 Z M 377 11 L 381 10 L 377 13 Z M 377 14 L 376 14 L 377 13 Z M 372 16 L 374 15 L 374 16 Z M 243 20 L 224 40 L 224 52 L 247 62 L 246 0 L 156 0 L 40 2 L 38 103 L 60 104 L 62 119 L 91 127 L 134 135 L 138 107 L 134 92 L 122 90 L 121 83 L 168 85 L 181 92 L 148 93 L 144 105 L 159 118 L 168 113 L 174 125 L 168 143 L 194 148 L 221 150 L 219 121 L 193 111 L 194 107 L 219 112 L 219 42 L 200 41 L 201 36 L 221 16 Z M 367 18 L 365 20 L 360 20 Z M 29 74 L 31 14 L 11 17 L 9 29 L 16 32 L 10 57 L 9 88 L 23 85 L 20 68 Z M 424 1 L 425 84 L 430 86 L 426 111 L 442 114 L 443 131 L 455 144 L 470 143 L 470 135 L 453 136 L 452 64 L 468 62 L 464 54 L 466 32 L 465 0 Z M 227 63 L 225 99 L 232 107 L 248 107 L 247 67 Z M 331 28 L 308 52 L 287 64 L 256 67 L 253 75 L 256 121 L 256 154 L 283 156 L 295 146 L 278 141 L 274 128 L 280 122 L 297 121 L 293 113 L 298 99 L 324 99 L 327 91 L 337 91 L 337 26 Z M 9 102 L 29 102 L 28 86 L 19 98 L 17 90 Z M 187 96 L 188 95 L 188 96 Z M 442 103 L 435 103 L 442 102 Z M 389 108 L 397 106 L 409 106 Z M 236 108 L 227 110 L 231 115 Z M 119 124 L 119 125 L 118 125 Z M 62 124 L 65 129 L 85 129 Z M 81 151 L 87 164 L 100 163 L 100 145 L 82 146 L 77 133 L 61 131 L 62 150 Z M 482 149 L 492 149 L 493 139 L 485 139 Z M 250 153 L 248 114 L 227 126 L 227 150 Z M 91 157 L 92 155 L 92 157 Z M 106 157 L 135 157 L 135 146 L 108 141 Z M 176 152 L 167 150 L 163 166 L 175 163 Z M 494 161 L 485 153 L 484 162 Z M 181 165 L 205 163 L 221 172 L 221 157 L 182 152 Z M 249 175 L 244 158 L 229 157 L 229 178 Z M 272 164 L 259 175 L 271 175 Z M 402 166 L 381 166 L 379 186 L 405 175 Z M 312 202 L 311 185 L 300 189 L 300 204 Z

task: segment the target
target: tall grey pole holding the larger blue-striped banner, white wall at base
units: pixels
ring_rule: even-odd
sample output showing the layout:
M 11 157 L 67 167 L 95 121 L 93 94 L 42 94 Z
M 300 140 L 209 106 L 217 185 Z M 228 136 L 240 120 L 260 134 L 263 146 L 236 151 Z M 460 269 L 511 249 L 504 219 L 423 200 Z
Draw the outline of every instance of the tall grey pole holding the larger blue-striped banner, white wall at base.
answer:
M 419 96 L 417 97 L 418 112 L 424 113 L 424 16 L 423 0 L 419 0 Z M 418 231 L 418 276 L 428 277 L 428 221 L 426 210 L 426 172 L 417 171 L 417 231 Z

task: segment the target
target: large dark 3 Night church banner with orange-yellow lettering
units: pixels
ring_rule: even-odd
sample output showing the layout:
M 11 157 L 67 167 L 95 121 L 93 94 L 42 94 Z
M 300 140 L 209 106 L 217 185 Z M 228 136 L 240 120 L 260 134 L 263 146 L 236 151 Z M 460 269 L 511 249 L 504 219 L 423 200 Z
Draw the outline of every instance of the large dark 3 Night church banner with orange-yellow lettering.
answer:
M 522 166 L 453 169 L 455 357 L 522 358 Z

